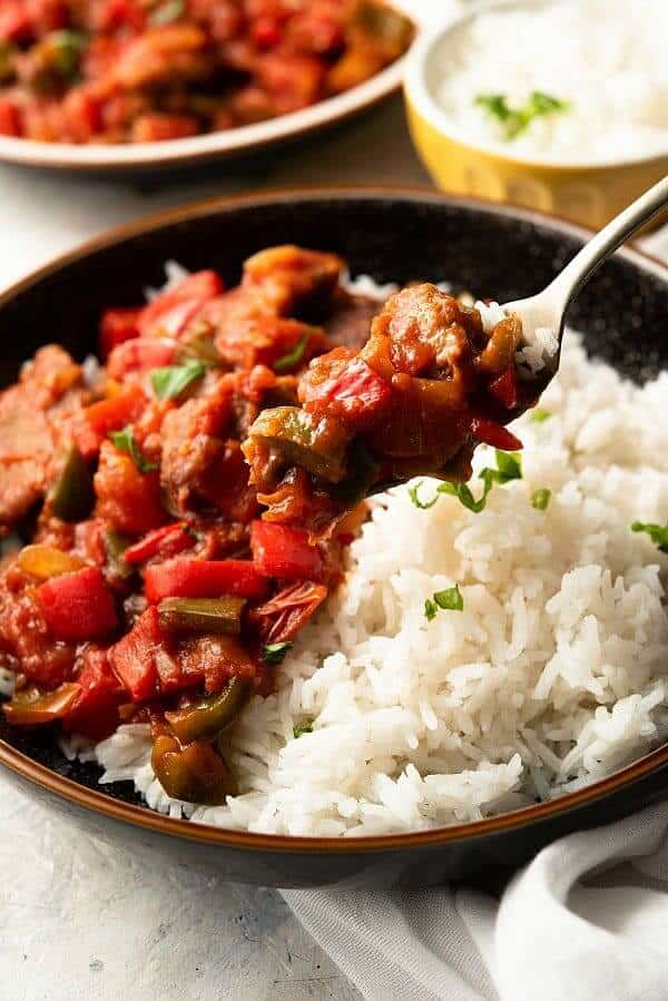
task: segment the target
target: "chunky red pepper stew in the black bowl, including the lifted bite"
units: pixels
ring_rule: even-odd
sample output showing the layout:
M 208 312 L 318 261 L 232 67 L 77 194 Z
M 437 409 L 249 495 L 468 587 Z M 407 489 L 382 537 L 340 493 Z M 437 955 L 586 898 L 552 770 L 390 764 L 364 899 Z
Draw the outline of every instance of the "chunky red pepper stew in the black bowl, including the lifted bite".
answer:
M 224 802 L 225 734 L 341 580 L 364 499 L 520 448 L 519 322 L 485 333 L 430 284 L 381 307 L 343 269 L 281 246 L 229 291 L 191 274 L 104 314 L 104 366 L 47 345 L 0 394 L 0 526 L 28 543 L 0 572 L 10 724 L 147 722 L 167 793 Z

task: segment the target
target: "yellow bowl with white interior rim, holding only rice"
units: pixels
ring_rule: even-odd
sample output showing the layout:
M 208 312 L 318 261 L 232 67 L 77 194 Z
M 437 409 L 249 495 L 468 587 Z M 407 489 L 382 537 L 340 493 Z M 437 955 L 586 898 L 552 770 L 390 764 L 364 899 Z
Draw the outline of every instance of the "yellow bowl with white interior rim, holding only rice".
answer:
M 668 144 L 665 154 L 651 158 L 529 160 L 505 154 L 491 143 L 470 140 L 434 99 L 436 61 L 442 59 L 452 32 L 483 11 L 521 6 L 530 4 L 518 0 L 479 4 L 473 12 L 452 18 L 415 43 L 404 79 L 411 136 L 443 190 L 537 208 L 598 229 L 668 173 Z

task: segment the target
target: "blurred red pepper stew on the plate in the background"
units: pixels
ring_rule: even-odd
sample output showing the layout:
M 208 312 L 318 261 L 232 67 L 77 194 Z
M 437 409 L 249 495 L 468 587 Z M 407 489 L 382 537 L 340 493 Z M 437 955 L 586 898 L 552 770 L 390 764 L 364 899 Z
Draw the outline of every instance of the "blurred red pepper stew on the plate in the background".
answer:
M 149 143 L 275 118 L 409 47 L 382 0 L 1 0 L 0 135 Z

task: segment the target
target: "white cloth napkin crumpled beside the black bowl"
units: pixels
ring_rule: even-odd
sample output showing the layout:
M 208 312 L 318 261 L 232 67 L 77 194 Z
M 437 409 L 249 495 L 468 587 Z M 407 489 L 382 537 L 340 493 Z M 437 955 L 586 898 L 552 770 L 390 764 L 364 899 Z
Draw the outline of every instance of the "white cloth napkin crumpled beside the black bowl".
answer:
M 664 1001 L 667 832 L 661 804 L 572 834 L 500 902 L 449 887 L 284 896 L 370 1001 Z

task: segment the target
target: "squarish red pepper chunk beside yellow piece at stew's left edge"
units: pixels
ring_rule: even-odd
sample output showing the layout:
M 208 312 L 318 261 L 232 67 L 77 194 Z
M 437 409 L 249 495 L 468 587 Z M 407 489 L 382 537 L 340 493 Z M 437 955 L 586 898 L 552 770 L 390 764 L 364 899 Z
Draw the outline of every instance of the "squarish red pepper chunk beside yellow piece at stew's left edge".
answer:
M 53 639 L 97 639 L 112 632 L 118 617 L 99 567 L 61 573 L 37 589 Z

